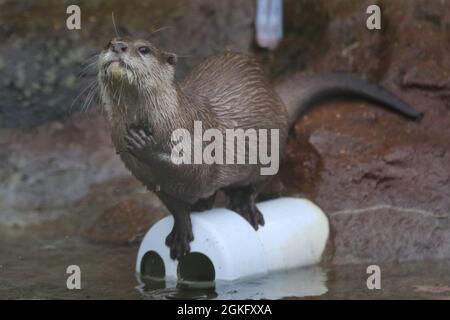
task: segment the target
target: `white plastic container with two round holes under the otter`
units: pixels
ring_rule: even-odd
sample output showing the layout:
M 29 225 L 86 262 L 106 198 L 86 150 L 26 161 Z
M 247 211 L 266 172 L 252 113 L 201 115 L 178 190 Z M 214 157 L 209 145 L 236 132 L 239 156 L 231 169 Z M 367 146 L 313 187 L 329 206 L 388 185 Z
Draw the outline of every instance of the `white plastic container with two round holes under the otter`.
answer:
M 280 198 L 257 205 L 265 225 L 255 231 L 228 209 L 192 213 L 194 241 L 180 262 L 170 258 L 165 238 L 171 216 L 158 221 L 139 248 L 136 271 L 183 281 L 236 280 L 318 263 L 329 234 L 328 219 L 312 202 Z

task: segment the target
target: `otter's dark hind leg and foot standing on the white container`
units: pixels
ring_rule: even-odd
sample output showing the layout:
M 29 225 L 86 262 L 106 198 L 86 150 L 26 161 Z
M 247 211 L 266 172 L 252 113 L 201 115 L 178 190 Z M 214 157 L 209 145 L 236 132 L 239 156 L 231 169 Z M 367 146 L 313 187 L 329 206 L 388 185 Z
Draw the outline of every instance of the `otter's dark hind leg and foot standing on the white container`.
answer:
M 230 209 L 239 213 L 255 230 L 264 225 L 264 217 L 256 207 L 256 199 L 261 188 L 256 185 L 226 188 L 230 199 Z

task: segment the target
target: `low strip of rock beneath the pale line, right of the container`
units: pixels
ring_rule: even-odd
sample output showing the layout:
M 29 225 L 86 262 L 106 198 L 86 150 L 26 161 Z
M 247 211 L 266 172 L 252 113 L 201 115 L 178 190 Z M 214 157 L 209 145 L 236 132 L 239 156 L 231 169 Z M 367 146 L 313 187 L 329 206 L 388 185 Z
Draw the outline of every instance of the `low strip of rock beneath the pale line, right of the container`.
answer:
M 450 224 L 435 212 L 391 205 L 331 214 L 337 264 L 446 258 Z

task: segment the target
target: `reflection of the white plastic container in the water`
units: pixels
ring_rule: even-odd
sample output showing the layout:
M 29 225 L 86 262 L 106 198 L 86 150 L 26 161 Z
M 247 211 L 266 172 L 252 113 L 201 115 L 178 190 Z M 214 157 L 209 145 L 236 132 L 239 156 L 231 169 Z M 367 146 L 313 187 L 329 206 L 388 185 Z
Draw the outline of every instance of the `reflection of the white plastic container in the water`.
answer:
M 237 281 L 216 281 L 191 286 L 176 280 L 155 280 L 137 276 L 138 291 L 146 299 L 280 299 L 325 294 L 327 276 L 320 266 L 274 273 Z

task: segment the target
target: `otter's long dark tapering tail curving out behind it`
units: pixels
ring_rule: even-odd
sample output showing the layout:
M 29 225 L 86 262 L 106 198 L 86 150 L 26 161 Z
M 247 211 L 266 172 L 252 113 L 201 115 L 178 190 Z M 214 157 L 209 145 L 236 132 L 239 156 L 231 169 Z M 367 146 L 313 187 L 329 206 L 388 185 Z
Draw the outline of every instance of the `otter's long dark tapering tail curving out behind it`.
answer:
M 276 90 L 288 108 L 290 125 L 309 107 L 333 97 L 370 100 L 413 120 L 422 116 L 393 93 L 350 74 L 298 74 L 289 81 L 280 83 Z

